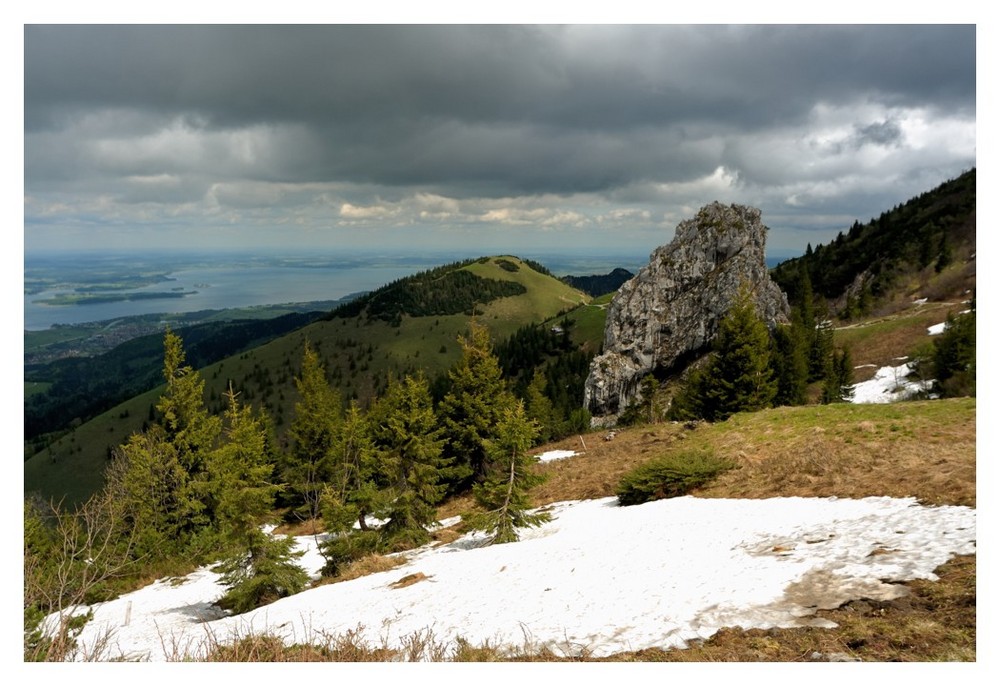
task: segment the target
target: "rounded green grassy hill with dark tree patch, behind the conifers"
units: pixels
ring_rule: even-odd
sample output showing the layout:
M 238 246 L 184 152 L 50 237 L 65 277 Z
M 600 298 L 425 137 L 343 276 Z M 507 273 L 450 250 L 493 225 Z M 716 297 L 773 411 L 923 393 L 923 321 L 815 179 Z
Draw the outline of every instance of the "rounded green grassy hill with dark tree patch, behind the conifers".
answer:
M 388 374 L 423 370 L 433 379 L 445 373 L 459 359 L 458 337 L 473 316 L 494 341 L 501 341 L 521 327 L 567 313 L 572 317 L 575 308 L 589 301 L 516 257 L 446 265 L 389 284 L 324 320 L 202 367 L 206 402 L 212 412 L 221 412 L 222 394 L 231 382 L 244 402 L 266 411 L 280 441 L 298 399 L 295 377 L 307 341 L 345 401 L 364 404 L 384 389 Z M 593 316 L 589 313 L 588 322 Z M 586 328 L 588 335 L 596 329 L 590 323 Z M 574 343 L 582 342 L 574 336 Z M 599 345 L 599 339 L 591 345 Z M 85 499 L 101 485 L 112 450 L 153 417 L 160 392 L 156 388 L 116 405 L 32 455 L 24 464 L 25 491 L 69 502 Z

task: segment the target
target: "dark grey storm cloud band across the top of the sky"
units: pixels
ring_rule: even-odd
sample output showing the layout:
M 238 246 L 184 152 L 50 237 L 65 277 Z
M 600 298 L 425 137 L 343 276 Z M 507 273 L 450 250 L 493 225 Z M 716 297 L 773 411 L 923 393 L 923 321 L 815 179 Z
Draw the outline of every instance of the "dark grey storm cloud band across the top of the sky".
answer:
M 31 26 L 25 38 L 29 132 L 102 111 L 301 127 L 264 158 L 284 181 L 598 190 L 722 162 L 677 155 L 688 129 L 797 125 L 818 101 L 975 107 L 974 29 L 961 26 Z

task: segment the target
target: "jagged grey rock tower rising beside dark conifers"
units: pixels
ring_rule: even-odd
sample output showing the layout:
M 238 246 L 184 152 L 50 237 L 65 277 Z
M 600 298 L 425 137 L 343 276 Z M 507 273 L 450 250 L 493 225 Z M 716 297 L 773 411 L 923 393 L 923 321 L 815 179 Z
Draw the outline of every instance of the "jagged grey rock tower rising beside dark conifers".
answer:
M 591 363 L 584 391 L 592 415 L 621 412 L 643 376 L 704 351 L 743 283 L 768 326 L 788 320 L 788 299 L 764 262 L 766 233 L 760 210 L 716 202 L 653 251 L 608 306 L 604 352 Z

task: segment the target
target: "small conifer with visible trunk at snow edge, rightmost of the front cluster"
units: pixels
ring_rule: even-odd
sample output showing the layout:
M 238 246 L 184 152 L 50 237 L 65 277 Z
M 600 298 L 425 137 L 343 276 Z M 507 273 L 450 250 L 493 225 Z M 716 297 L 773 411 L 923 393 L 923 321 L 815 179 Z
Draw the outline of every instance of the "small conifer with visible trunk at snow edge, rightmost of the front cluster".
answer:
M 495 437 L 486 441 L 486 478 L 472 491 L 485 512 L 466 515 L 471 529 L 486 531 L 487 544 L 518 540 L 517 529 L 547 522 L 546 513 L 531 513 L 528 490 L 543 478 L 531 470 L 536 459 L 528 455 L 538 431 L 528 419 L 524 404 L 517 401 L 504 409 Z

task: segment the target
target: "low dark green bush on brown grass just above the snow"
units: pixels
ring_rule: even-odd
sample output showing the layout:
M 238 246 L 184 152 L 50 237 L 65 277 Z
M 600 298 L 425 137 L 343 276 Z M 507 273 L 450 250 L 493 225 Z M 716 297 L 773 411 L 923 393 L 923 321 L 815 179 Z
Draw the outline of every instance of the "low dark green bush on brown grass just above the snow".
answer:
M 702 486 L 735 463 L 708 451 L 670 453 L 639 465 L 618 484 L 620 505 L 639 505 L 661 498 L 676 498 Z

